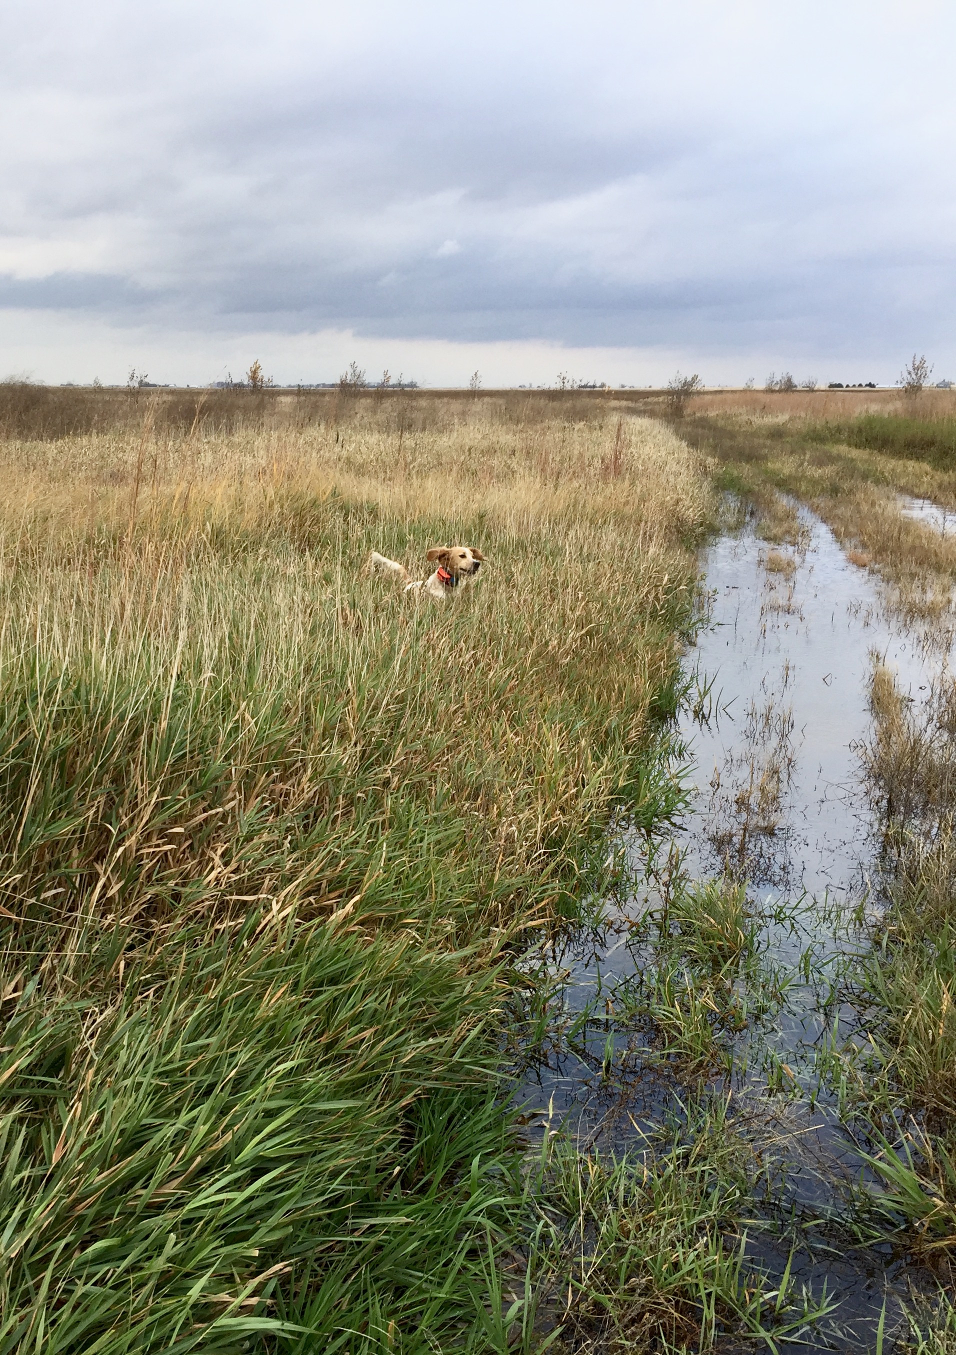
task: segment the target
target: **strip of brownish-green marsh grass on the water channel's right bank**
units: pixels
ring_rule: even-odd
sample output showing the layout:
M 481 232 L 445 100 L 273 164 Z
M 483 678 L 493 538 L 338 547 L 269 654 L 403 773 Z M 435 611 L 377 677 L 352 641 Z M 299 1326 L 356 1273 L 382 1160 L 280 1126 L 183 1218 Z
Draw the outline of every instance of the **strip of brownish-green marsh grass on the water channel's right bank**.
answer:
M 865 1046 L 837 1049 L 834 1068 L 873 1144 L 879 1207 L 914 1225 L 917 1249 L 945 1267 L 956 1248 L 953 679 L 914 702 L 875 660 L 871 705 L 864 762 L 886 824 L 888 901 L 850 966 Z

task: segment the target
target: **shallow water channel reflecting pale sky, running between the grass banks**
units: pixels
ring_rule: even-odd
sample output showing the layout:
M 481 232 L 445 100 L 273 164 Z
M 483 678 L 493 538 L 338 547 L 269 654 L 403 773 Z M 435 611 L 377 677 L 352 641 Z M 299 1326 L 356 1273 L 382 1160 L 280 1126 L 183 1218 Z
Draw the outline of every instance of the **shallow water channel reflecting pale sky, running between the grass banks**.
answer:
M 561 984 L 561 1020 L 519 1099 L 535 1111 L 532 1140 L 563 1123 L 617 1152 L 680 1119 L 700 1075 L 692 1093 L 680 1058 L 661 1057 L 642 1007 L 659 965 L 647 917 L 677 873 L 745 882 L 760 962 L 739 978 L 739 1030 L 723 1031 L 703 1080 L 761 1164 L 749 1256 L 772 1276 L 789 1257 L 791 1275 L 835 1304 L 781 1351 L 873 1351 L 886 1304 L 888 1352 L 902 1304 L 930 1280 L 845 1226 L 871 1182 L 821 1054 L 834 1038 L 865 1042 L 840 977 L 879 908 L 880 824 L 860 757 L 873 653 L 915 701 L 940 659 L 894 619 L 879 583 L 819 519 L 800 509 L 800 520 L 795 549 L 768 546 L 747 523 L 705 553 L 708 621 L 687 656 L 699 698 L 680 726 L 688 812 L 654 847 L 626 839 L 634 883 L 603 925 L 539 953 Z

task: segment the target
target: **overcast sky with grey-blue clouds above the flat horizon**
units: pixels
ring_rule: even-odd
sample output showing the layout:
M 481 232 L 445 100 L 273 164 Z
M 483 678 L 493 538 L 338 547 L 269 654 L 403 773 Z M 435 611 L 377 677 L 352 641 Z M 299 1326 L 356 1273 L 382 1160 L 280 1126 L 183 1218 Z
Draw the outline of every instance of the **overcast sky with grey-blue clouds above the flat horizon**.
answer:
M 956 378 L 956 5 L 34 0 L 0 375 Z

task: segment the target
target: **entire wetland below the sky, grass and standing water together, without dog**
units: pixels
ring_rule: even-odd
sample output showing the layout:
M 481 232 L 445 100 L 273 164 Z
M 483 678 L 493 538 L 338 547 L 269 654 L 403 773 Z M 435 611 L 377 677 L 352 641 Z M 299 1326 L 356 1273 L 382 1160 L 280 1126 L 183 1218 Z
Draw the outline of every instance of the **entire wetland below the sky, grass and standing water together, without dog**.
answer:
M 27 394 L 0 1351 L 956 1350 L 952 413 Z

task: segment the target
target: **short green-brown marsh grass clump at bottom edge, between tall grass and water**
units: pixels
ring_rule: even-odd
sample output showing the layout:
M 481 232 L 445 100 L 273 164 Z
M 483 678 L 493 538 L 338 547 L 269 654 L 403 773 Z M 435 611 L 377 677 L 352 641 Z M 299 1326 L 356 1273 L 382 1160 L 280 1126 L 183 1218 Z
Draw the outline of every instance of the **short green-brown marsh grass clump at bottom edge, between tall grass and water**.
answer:
M 555 1351 L 707 1350 L 724 1335 L 770 1348 L 827 1310 L 746 1260 L 749 1153 L 716 1103 L 624 1156 L 548 1140 L 528 1177 L 539 1318 Z M 544 1324 L 543 1324 L 544 1325 Z

